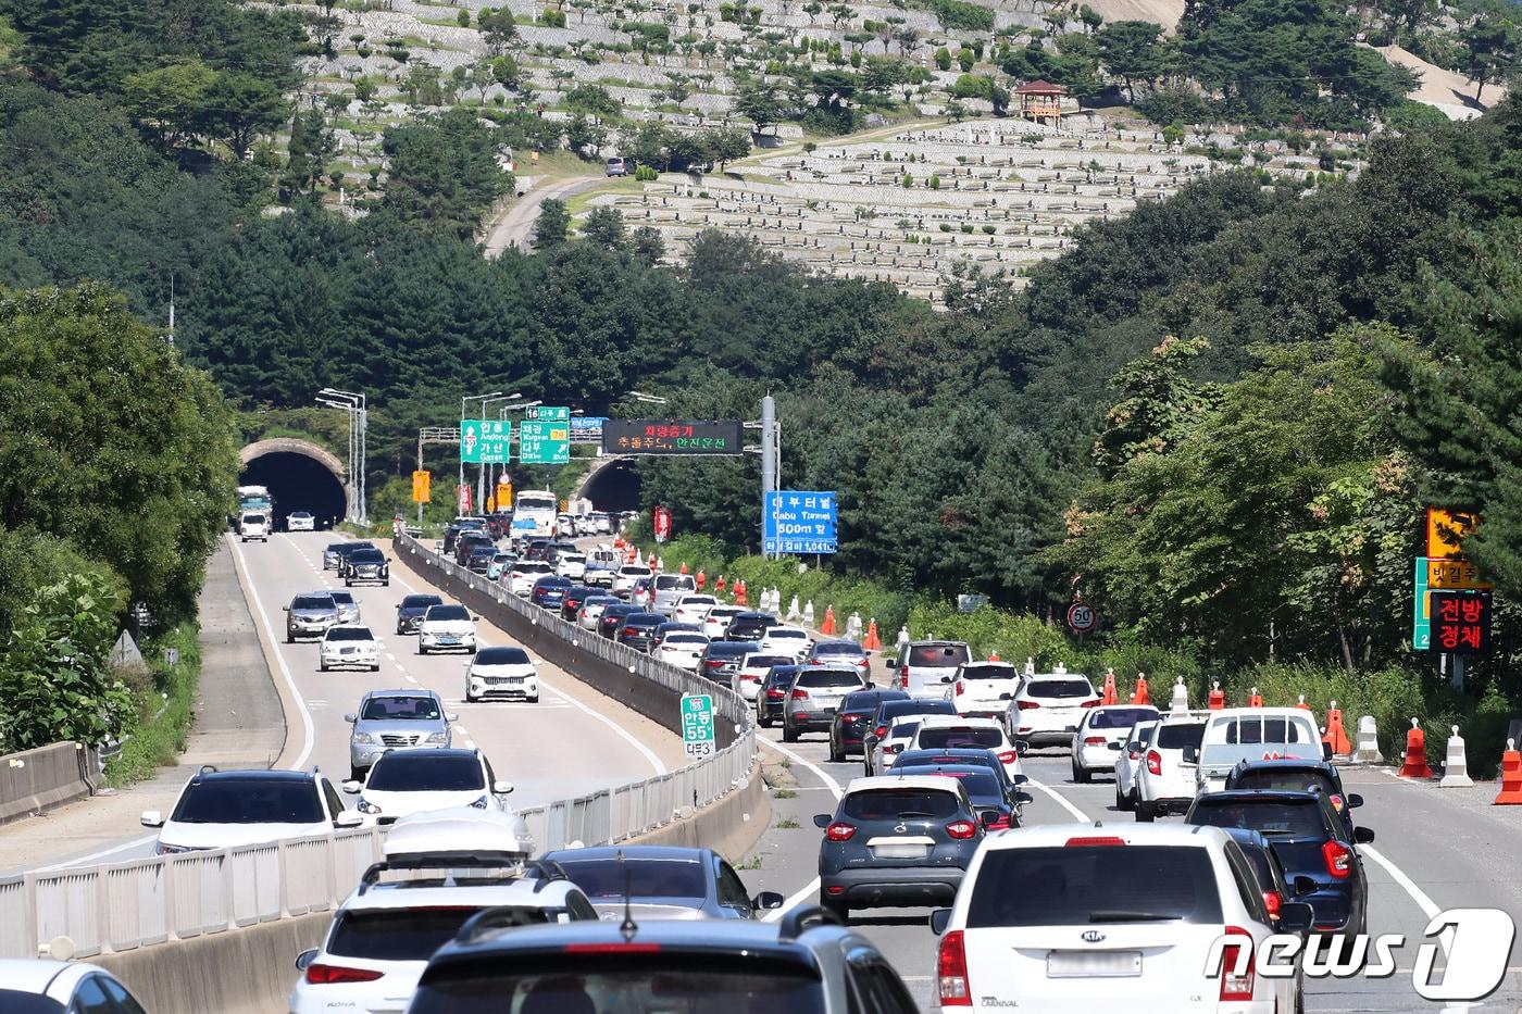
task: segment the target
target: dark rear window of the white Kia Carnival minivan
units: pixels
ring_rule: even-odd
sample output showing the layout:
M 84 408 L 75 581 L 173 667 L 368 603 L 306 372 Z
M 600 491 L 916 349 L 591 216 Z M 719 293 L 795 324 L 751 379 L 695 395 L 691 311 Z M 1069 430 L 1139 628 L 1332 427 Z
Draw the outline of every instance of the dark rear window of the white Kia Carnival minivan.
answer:
M 1001 848 L 983 856 L 966 927 L 1221 923 L 1210 853 L 1184 845 Z

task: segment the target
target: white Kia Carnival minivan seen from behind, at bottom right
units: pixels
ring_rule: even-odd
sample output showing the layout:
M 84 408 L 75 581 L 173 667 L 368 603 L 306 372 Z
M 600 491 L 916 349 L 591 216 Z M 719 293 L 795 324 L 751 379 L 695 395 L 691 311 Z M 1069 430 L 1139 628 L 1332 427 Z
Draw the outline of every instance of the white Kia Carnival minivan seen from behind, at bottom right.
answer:
M 1216 827 L 989 834 L 954 906 L 930 920 L 938 1009 L 1289 1014 L 1301 1009 L 1298 979 L 1254 974 L 1243 952 L 1310 918 L 1309 904 L 1286 901 L 1275 929 L 1251 865 Z M 1222 936 L 1236 942 L 1212 974 Z

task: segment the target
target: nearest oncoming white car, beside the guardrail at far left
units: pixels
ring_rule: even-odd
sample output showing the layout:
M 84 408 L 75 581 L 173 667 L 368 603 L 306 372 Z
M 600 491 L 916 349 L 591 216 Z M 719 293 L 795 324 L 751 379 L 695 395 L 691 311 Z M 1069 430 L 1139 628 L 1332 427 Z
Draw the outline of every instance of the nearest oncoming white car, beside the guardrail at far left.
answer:
M 142 816 L 143 827 L 158 828 L 158 856 L 332 834 L 362 822 L 317 770 L 218 770 L 210 764 L 190 775 L 167 819 L 158 810 Z

